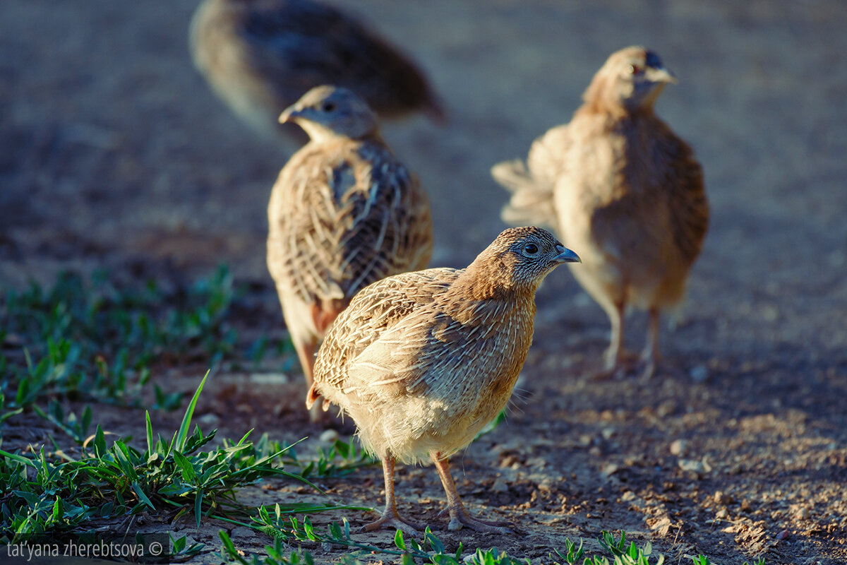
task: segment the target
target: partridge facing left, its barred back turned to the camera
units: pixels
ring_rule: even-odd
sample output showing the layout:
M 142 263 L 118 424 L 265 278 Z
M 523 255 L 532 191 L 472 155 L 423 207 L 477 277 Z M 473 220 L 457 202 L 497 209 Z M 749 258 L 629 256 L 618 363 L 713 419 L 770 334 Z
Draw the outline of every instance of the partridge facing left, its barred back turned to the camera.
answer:
M 311 141 L 280 171 L 268 204 L 268 270 L 312 385 L 314 352 L 354 294 L 432 255 L 429 202 L 352 91 L 318 86 L 285 110 Z M 312 416 L 318 415 L 313 411 Z

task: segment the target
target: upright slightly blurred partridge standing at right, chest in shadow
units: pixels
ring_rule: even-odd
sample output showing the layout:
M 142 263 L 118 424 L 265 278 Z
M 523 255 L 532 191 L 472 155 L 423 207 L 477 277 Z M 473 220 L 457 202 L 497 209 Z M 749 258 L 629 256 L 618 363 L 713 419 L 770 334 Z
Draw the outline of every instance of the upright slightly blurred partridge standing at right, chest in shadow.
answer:
M 570 124 L 534 141 L 527 166 L 491 169 L 512 191 L 505 221 L 546 224 L 579 249 L 583 264 L 573 275 L 612 322 L 604 374 L 629 368 L 622 346 L 628 306 L 649 313 L 641 363 L 645 377 L 654 373 L 659 314 L 683 298 L 709 223 L 700 163 L 653 111 L 669 82 L 676 80 L 656 53 L 613 53 Z

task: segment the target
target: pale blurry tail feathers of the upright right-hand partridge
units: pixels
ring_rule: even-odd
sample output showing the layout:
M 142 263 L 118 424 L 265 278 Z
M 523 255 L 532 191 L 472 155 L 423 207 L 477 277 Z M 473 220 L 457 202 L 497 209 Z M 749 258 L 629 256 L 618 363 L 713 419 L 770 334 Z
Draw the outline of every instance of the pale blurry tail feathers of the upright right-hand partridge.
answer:
M 507 191 L 512 192 L 509 203 L 500 217 L 507 224 L 539 225 L 556 229 L 556 209 L 553 208 L 553 187 L 533 177 L 520 159 L 504 161 L 491 167 L 491 176 Z

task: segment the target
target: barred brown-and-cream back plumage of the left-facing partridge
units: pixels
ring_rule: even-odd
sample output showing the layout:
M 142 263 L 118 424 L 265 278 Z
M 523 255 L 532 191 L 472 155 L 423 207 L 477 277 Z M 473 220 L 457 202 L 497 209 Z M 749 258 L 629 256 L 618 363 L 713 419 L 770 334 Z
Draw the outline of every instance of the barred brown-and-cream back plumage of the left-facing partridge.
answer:
M 424 269 L 432 255 L 428 199 L 373 136 L 297 152 L 274 185 L 268 224 L 268 269 L 280 296 L 306 305 L 335 301 L 340 310 L 364 286 Z M 296 324 L 306 328 L 292 332 L 321 337 L 309 317 Z

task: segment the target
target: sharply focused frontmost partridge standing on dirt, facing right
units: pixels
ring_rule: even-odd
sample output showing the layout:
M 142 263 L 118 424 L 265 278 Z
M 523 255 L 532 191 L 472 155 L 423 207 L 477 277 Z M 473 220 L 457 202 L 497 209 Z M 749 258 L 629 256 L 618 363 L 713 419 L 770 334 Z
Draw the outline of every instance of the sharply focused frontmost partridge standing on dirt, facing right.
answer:
M 329 329 L 315 363 L 307 406 L 324 396 L 356 422 L 382 459 L 385 512 L 365 529 L 397 528 L 394 464 L 431 458 L 447 495 L 449 529 L 507 533 L 471 517 L 447 458 L 506 406 L 535 315 L 535 291 L 577 255 L 540 228 L 511 228 L 467 269 L 398 274 L 360 291 Z

